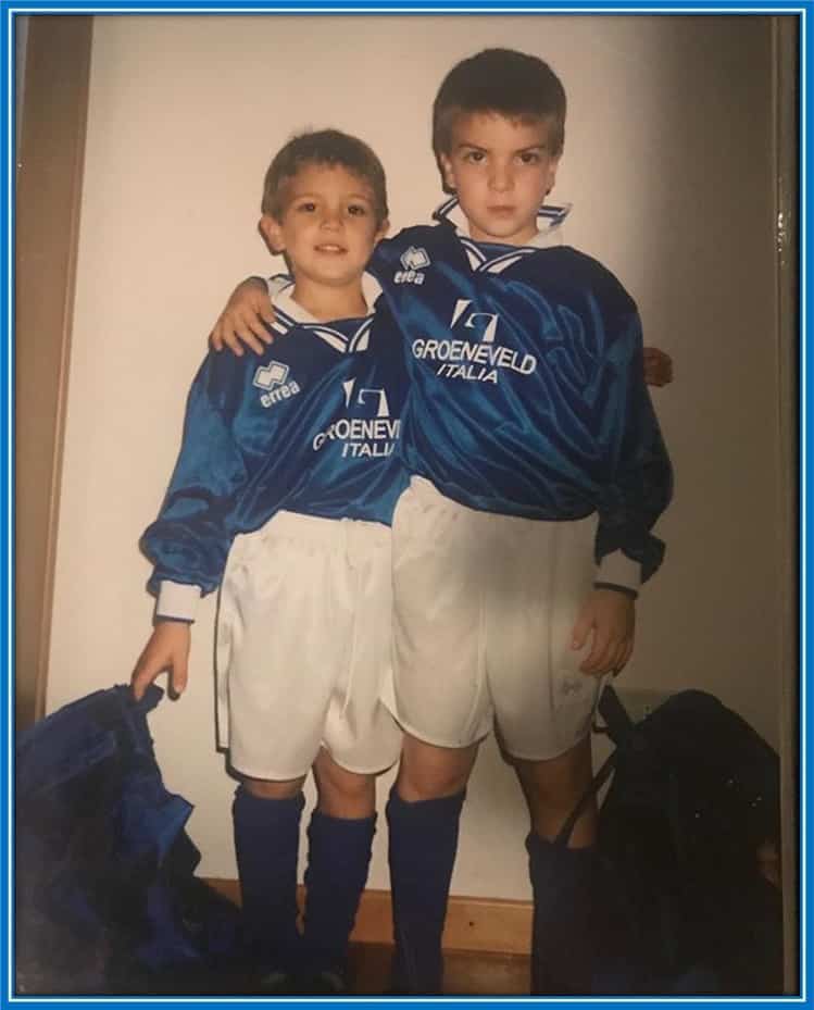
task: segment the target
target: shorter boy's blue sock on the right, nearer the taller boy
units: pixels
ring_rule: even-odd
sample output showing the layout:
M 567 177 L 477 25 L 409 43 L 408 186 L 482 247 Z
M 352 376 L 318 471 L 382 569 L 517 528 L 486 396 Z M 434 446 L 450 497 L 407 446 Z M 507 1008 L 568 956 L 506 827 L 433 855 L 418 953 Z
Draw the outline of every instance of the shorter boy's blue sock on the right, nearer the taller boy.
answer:
M 348 939 L 367 883 L 376 815 L 331 818 L 314 810 L 305 871 L 305 967 L 345 975 Z

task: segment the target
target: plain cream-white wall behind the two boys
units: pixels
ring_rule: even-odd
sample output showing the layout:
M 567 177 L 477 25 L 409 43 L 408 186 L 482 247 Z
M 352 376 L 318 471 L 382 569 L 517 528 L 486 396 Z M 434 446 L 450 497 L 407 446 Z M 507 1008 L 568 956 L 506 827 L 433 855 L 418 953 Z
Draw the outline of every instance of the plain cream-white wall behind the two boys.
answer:
M 272 266 L 255 222 L 273 152 L 306 126 L 358 133 L 388 170 L 395 228 L 427 220 L 435 90 L 494 45 L 563 77 L 568 238 L 623 278 L 675 358 L 654 394 L 676 471 L 668 553 L 625 681 L 712 690 L 776 743 L 771 76 L 754 16 L 97 17 L 49 710 L 125 682 L 149 634 L 136 543 L 209 328 L 237 279 Z M 196 805 L 202 872 L 234 876 L 213 613 L 187 694 L 151 726 L 168 787 Z M 491 744 L 469 797 L 454 893 L 527 897 L 525 812 Z M 385 834 L 373 887 L 387 887 Z

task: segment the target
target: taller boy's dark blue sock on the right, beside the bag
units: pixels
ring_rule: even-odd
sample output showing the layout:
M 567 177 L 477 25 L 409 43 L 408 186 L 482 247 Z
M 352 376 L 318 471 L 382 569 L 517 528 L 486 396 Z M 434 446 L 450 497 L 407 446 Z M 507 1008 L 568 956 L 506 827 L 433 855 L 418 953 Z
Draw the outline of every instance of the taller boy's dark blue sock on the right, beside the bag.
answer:
M 534 891 L 531 995 L 589 994 L 597 847 L 569 849 L 533 832 L 526 848 Z

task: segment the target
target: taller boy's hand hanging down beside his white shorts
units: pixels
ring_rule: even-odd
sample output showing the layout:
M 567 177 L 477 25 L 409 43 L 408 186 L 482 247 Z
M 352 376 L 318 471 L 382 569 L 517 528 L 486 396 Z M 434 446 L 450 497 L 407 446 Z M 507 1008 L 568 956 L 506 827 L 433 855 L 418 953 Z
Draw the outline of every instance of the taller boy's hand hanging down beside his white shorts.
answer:
M 593 589 L 583 603 L 572 633 L 572 649 L 578 650 L 591 632 L 591 650 L 579 664 L 583 673 L 599 677 L 618 673 L 634 650 L 636 604 L 616 589 Z

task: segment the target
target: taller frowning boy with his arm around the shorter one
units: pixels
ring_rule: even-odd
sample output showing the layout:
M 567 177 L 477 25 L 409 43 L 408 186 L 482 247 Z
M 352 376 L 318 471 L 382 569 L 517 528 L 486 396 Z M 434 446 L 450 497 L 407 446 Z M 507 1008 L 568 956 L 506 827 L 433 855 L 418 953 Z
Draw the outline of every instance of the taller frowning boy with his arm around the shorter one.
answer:
M 533 990 L 591 985 L 596 808 L 567 848 L 553 839 L 590 781 L 600 678 L 633 650 L 672 472 L 633 300 L 597 261 L 552 245 L 561 215 L 540 210 L 564 122 L 562 85 L 537 58 L 458 64 L 433 120 L 454 199 L 371 264 L 411 376 L 388 697 L 405 740 L 387 810 L 395 984 L 408 993 L 441 988 L 458 824 L 492 721 L 531 819 Z

